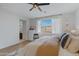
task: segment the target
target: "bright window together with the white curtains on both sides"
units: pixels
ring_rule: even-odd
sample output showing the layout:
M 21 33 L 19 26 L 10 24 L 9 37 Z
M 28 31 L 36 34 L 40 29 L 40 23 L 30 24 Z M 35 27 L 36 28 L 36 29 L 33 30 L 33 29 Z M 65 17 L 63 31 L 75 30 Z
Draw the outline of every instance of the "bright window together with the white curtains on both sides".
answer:
M 42 19 L 38 21 L 38 32 L 42 33 L 61 33 L 60 19 Z

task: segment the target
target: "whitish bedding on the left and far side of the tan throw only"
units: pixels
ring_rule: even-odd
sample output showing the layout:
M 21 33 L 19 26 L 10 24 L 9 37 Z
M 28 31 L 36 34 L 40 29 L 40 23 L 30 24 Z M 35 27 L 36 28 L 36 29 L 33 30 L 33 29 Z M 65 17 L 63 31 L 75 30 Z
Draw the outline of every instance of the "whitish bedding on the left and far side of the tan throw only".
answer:
M 40 39 L 37 39 L 25 46 L 25 48 L 22 48 L 18 51 L 17 55 L 25 55 L 25 56 L 35 56 L 37 48 L 45 44 L 45 42 L 51 42 L 53 45 L 57 44 L 58 39 L 55 36 L 44 36 Z

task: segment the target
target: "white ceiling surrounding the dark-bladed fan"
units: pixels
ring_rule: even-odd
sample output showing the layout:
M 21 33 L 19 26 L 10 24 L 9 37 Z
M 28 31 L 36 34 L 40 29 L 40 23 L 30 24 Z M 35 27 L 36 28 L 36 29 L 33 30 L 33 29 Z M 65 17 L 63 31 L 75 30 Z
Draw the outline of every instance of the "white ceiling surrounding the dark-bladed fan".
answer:
M 0 9 L 16 14 L 21 17 L 35 18 L 56 14 L 64 14 L 73 12 L 79 8 L 78 3 L 50 3 L 50 5 L 40 6 L 43 10 L 40 12 L 38 9 L 29 11 L 32 5 L 27 3 L 0 3 Z

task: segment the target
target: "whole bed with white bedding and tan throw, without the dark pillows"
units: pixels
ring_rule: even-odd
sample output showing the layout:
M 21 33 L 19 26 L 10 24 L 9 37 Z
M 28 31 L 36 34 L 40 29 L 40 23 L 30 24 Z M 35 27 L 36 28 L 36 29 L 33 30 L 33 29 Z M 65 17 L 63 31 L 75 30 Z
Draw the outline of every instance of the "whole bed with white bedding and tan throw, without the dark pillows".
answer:
M 18 49 L 15 56 L 79 56 L 79 54 L 72 52 L 74 49 L 70 49 L 74 45 L 72 42 L 69 48 L 62 48 L 58 36 L 43 36 L 27 44 L 24 48 Z

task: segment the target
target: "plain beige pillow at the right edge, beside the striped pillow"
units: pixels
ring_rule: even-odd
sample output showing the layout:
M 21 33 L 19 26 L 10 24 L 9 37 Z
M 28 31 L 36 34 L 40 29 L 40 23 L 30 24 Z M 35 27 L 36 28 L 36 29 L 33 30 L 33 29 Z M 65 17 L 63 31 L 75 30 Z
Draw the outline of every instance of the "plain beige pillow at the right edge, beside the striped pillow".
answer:
M 78 52 L 79 51 L 79 36 L 71 35 L 71 42 L 68 46 L 68 50 L 71 52 Z

